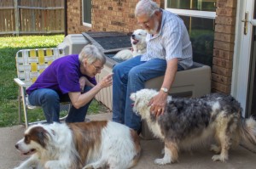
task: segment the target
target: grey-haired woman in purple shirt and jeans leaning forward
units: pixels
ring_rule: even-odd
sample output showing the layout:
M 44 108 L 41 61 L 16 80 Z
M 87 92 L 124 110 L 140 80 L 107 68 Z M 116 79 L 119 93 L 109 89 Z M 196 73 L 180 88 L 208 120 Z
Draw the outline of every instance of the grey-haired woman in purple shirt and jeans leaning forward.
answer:
M 103 87 L 112 85 L 112 74 L 96 83 L 95 76 L 106 62 L 102 51 L 85 46 L 80 54 L 56 59 L 27 88 L 30 104 L 42 106 L 48 123 L 59 121 L 60 102 L 71 101 L 67 122 L 84 121 L 90 101 Z

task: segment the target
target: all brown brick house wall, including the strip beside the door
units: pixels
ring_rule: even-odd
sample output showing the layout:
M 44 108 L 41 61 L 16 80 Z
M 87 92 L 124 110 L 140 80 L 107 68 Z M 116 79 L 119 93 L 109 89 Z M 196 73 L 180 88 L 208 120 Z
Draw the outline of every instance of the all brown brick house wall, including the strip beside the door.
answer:
M 92 0 L 91 27 L 82 21 L 82 0 L 67 0 L 67 34 L 83 31 L 131 32 L 137 28 L 138 0 Z M 155 0 L 164 8 L 164 0 Z M 230 93 L 235 46 L 237 0 L 217 0 L 212 59 L 212 92 Z

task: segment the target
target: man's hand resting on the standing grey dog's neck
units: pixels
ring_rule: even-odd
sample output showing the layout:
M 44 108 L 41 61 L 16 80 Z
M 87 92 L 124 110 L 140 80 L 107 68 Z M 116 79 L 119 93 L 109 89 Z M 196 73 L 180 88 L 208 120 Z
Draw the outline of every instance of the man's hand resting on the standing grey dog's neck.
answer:
M 160 91 L 156 96 L 154 96 L 154 98 L 149 101 L 148 106 L 151 106 L 150 112 L 156 117 L 165 112 L 167 96 L 168 93 Z

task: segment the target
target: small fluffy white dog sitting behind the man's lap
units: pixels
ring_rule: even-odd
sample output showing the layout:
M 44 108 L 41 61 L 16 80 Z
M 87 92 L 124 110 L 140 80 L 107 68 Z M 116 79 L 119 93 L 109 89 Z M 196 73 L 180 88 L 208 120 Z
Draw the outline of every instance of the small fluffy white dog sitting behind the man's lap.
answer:
M 147 51 L 146 43 L 147 31 L 137 29 L 131 35 L 131 50 L 123 49 L 113 56 L 114 59 L 131 59 L 137 55 L 145 54 Z

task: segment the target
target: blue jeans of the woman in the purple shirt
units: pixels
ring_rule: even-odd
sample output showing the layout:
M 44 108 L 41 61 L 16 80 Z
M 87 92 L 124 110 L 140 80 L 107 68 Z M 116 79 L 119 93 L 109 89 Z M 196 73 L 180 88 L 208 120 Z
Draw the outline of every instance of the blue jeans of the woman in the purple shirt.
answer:
M 84 93 L 88 92 L 90 89 L 91 87 L 85 86 Z M 49 88 L 42 88 L 33 91 L 28 96 L 28 100 L 30 104 L 41 106 L 43 108 L 44 116 L 48 123 L 52 123 L 54 121 L 59 122 L 60 103 L 70 102 L 68 94 L 59 94 L 56 93 L 55 90 Z M 79 109 L 74 108 L 72 105 L 68 112 L 66 122 L 84 121 L 90 102 Z

